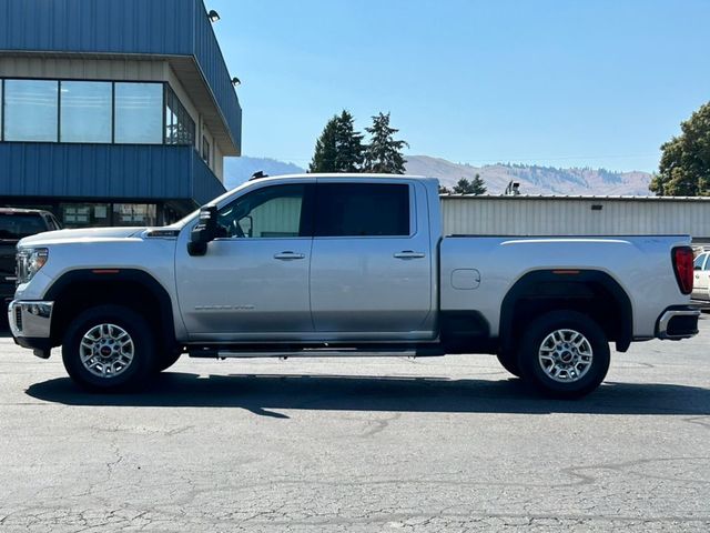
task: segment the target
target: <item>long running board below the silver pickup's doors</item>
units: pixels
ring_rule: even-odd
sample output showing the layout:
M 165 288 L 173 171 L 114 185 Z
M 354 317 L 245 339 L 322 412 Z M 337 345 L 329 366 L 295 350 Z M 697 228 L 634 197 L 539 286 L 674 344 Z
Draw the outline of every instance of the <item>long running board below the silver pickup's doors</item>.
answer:
M 191 358 L 226 359 L 226 358 L 430 358 L 445 355 L 445 351 L 436 346 L 358 346 L 358 348 L 303 348 L 292 349 L 239 349 L 230 348 L 187 348 Z

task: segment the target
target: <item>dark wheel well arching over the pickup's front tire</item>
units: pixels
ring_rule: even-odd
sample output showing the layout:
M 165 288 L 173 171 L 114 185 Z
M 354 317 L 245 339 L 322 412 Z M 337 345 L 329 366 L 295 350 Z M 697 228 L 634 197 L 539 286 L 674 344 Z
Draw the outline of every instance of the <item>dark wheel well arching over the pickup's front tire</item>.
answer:
M 54 301 L 52 311 L 52 345 L 62 343 L 72 319 L 85 309 L 112 303 L 125 305 L 143 316 L 161 349 L 175 343 L 170 296 L 149 274 L 120 271 L 118 274 L 71 272 L 52 285 L 45 296 Z

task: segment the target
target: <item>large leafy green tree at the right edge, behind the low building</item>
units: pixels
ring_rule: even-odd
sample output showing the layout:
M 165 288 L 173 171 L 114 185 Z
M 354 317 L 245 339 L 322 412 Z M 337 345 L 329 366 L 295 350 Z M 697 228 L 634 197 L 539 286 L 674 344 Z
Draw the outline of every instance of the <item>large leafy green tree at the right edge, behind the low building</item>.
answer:
M 710 102 L 680 124 L 681 134 L 662 147 L 649 189 L 659 197 L 710 195 Z

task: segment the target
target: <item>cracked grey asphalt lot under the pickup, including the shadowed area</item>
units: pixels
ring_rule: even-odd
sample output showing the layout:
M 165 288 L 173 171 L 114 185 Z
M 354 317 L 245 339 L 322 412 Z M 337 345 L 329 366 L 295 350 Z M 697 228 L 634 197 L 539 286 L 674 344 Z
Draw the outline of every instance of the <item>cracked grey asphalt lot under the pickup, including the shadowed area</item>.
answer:
M 710 320 L 579 401 L 486 355 L 184 358 L 78 391 L 0 339 L 0 532 L 709 531 Z

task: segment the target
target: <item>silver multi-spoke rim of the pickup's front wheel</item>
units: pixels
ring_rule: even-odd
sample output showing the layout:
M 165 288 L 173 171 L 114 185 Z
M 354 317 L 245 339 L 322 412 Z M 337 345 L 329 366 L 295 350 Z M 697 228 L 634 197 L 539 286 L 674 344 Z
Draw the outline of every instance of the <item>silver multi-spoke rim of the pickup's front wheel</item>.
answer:
M 99 324 L 81 338 L 79 356 L 93 375 L 104 379 L 121 375 L 133 362 L 135 346 L 131 335 L 120 325 Z

